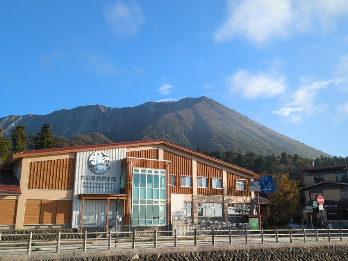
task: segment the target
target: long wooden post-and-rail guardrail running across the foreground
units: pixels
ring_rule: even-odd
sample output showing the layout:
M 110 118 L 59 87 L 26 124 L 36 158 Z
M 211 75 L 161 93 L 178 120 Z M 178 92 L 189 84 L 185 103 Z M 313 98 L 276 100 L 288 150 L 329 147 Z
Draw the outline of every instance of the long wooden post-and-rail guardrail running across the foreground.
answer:
M 234 234 L 238 231 L 239 234 Z M 218 233 L 216 233 L 218 232 Z M 221 233 L 224 232 L 224 233 Z M 241 233 L 242 232 L 242 233 Z M 143 233 L 152 233 L 144 237 Z M 179 236 L 192 233 L 190 236 Z M 348 229 L 261 229 L 261 230 L 192 230 L 192 231 L 132 231 L 104 232 L 105 238 L 92 239 L 87 236 L 98 233 L 22 234 L 26 241 L 3 241 L 1 238 L 18 237 L 19 234 L 0 233 L 0 254 L 60 253 L 88 250 L 115 250 L 161 247 L 193 247 L 207 245 L 294 243 L 319 241 L 348 241 Z M 40 240 L 40 236 L 56 235 L 56 240 Z M 76 239 L 69 239 L 69 235 Z M 118 237 L 117 237 L 118 236 Z

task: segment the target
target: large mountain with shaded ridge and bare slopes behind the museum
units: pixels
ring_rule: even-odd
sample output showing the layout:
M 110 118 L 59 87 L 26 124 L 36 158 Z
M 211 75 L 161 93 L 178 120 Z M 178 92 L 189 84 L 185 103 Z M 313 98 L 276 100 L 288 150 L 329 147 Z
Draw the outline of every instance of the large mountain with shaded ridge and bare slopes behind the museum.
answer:
M 98 132 L 113 142 L 161 138 L 191 149 L 201 147 L 256 155 L 286 152 L 308 159 L 331 157 L 205 96 L 175 102 L 146 102 L 135 107 L 87 105 L 47 115 L 9 115 L 0 118 L 1 135 L 9 137 L 19 124 L 27 126 L 27 135 L 35 134 L 44 123 L 51 124 L 54 135 L 66 138 Z

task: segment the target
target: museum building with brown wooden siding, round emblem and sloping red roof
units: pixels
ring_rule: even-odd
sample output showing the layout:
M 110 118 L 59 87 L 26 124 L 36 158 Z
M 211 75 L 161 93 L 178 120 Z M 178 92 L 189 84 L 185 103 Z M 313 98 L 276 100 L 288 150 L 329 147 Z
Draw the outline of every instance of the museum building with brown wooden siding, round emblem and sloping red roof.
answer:
M 109 228 L 116 216 L 125 231 L 167 230 L 183 215 L 240 221 L 253 209 L 250 180 L 259 176 L 163 140 L 24 151 L 1 173 L 19 180 L 0 183 L 1 228 L 81 231 Z

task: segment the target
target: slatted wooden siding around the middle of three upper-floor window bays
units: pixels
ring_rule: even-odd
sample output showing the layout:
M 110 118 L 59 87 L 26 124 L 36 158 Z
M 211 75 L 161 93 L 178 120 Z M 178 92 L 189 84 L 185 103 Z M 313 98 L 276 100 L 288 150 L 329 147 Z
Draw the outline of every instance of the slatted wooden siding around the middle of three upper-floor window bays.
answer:
M 197 161 L 197 177 L 206 176 L 207 178 L 207 188 L 205 187 L 197 187 L 198 195 L 215 195 L 222 196 L 224 194 L 224 190 L 222 188 L 213 188 L 212 178 L 217 177 L 222 179 L 222 170 L 205 163 L 201 163 Z M 221 180 L 222 182 L 222 180 Z

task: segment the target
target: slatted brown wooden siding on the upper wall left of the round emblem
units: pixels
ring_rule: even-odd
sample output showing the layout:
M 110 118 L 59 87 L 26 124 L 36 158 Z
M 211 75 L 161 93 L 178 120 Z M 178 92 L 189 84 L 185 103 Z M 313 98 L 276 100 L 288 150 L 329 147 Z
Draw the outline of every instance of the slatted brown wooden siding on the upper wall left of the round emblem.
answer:
M 36 161 L 29 167 L 29 189 L 74 189 L 75 158 Z

